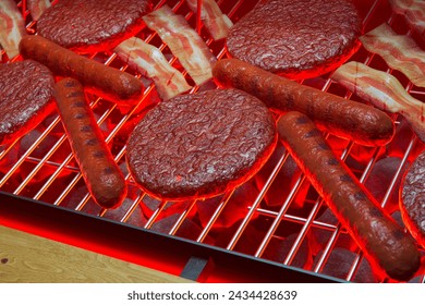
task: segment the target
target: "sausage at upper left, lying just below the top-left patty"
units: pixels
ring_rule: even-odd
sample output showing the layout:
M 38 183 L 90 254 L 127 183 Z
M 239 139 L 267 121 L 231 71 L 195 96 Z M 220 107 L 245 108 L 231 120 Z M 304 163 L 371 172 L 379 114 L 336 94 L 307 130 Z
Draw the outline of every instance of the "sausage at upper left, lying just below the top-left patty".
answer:
M 143 84 L 133 75 L 74 53 L 39 35 L 22 39 L 20 52 L 47 65 L 57 75 L 78 80 L 109 100 L 129 105 L 137 102 L 143 95 Z

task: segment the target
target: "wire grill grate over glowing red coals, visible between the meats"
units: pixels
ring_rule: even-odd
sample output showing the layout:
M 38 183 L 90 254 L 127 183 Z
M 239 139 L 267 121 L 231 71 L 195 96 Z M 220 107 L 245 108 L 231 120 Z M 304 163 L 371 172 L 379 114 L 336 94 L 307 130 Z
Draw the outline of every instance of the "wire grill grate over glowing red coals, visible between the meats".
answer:
M 192 13 L 184 0 L 154 2 L 155 8 L 167 3 L 175 13 L 184 15 L 194 28 L 198 28 L 196 14 Z M 356 2 L 365 16 L 365 32 L 386 21 L 399 33 L 414 36 L 404 20 L 391 13 L 387 1 Z M 218 3 L 233 22 L 254 5 L 244 0 Z M 31 21 L 23 3 L 20 2 L 19 5 L 24 11 L 28 32 L 36 33 L 36 23 Z M 212 41 L 203 27 L 198 30 L 218 58 L 226 57 L 223 41 Z M 161 49 L 169 56 L 170 63 L 186 75 L 155 33 L 145 28 L 138 37 Z M 95 53 L 90 58 L 135 74 L 112 52 Z M 425 101 L 423 88 L 414 87 L 398 72 L 388 69 L 378 57 L 361 49 L 354 59 L 396 75 L 411 95 Z M 238 190 L 220 197 L 206 202 L 166 203 L 144 194 L 126 170 L 125 141 L 134 124 L 159 99 L 154 85 L 141 75 L 137 77 L 143 80 L 146 89 L 139 103 L 132 108 L 113 105 L 97 96 L 88 96 L 97 122 L 129 183 L 129 195 L 121 208 L 101 209 L 90 199 L 57 114 L 46 119 L 23 138 L 0 147 L 0 191 L 99 216 L 118 223 L 130 223 L 231 252 L 328 273 L 342 280 L 381 281 L 372 272 L 367 273 L 363 254 L 344 229 L 329 215 L 326 204 L 305 176 L 293 168 L 290 156 L 282 147 L 277 149 L 266 169 Z M 191 82 L 189 76 L 186 77 Z M 356 99 L 330 81 L 328 75 L 304 81 L 304 84 Z M 215 85 L 210 82 L 202 87 L 194 86 L 192 93 L 212 87 Z M 394 120 L 397 134 L 393 142 L 386 147 L 366 148 L 333 135 L 326 136 L 335 151 L 366 185 L 371 180 L 376 180 L 376 171 L 379 173 L 384 161 L 388 161 L 391 175 L 386 183 L 378 183 L 378 186 L 381 185 L 379 199 L 382 207 L 397 215 L 398 208 L 392 198 L 397 197 L 398 182 L 421 144 L 409 129 L 405 129 L 401 117 L 394 117 Z M 368 187 L 376 186 L 371 185 Z M 340 269 L 345 271 L 338 273 Z M 425 282 L 425 277 L 418 277 L 416 280 Z

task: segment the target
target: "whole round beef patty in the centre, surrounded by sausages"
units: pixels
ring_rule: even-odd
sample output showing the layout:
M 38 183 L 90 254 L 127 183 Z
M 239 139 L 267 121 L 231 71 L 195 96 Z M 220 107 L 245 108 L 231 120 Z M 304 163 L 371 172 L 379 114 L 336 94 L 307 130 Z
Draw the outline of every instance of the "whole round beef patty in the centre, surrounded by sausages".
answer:
M 260 100 L 217 89 L 178 96 L 150 110 L 129 138 L 126 158 L 151 196 L 207 198 L 254 175 L 276 141 L 275 120 Z

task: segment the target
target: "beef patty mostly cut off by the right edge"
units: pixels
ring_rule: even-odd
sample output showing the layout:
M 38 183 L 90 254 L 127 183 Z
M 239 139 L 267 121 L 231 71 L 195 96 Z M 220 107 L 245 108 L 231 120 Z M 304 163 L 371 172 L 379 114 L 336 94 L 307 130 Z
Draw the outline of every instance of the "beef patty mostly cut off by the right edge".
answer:
M 403 179 L 400 210 L 409 231 L 425 247 L 425 150 Z

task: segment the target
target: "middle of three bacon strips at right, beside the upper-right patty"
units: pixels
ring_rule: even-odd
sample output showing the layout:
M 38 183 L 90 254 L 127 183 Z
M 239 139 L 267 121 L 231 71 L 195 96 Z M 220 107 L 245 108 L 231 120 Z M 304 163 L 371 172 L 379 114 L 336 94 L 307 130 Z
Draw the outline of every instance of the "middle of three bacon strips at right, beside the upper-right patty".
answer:
M 425 87 L 425 51 L 406 35 L 397 35 L 386 23 L 363 35 L 360 40 L 387 64 L 404 73 L 418 87 Z

